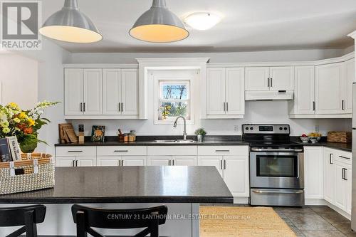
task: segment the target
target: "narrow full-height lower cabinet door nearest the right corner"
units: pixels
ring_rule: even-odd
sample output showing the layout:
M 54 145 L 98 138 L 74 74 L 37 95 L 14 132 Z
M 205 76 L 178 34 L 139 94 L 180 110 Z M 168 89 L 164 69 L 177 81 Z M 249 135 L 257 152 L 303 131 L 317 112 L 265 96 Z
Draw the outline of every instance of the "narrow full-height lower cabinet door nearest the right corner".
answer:
M 334 204 L 335 156 L 332 149 L 324 148 L 324 199 Z

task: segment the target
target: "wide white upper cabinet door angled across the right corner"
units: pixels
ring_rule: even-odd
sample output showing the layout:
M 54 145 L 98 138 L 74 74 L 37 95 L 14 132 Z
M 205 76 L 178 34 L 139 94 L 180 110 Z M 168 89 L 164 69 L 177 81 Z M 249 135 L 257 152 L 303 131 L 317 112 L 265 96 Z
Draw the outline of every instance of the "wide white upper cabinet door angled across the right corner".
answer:
M 316 114 L 340 114 L 342 110 L 342 63 L 315 67 Z

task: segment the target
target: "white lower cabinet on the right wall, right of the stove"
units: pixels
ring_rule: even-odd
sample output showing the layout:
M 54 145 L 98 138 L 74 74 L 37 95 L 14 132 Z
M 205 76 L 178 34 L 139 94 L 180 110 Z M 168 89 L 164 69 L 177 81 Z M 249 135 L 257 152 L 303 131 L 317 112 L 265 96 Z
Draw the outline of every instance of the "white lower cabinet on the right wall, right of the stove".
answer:
M 350 152 L 325 147 L 324 199 L 351 214 L 352 166 Z

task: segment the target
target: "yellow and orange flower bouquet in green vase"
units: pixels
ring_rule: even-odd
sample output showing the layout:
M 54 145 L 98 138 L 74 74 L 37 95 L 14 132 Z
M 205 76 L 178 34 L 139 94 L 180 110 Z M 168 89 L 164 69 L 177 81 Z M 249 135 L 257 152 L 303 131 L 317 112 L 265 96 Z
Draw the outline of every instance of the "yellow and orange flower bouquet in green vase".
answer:
M 0 105 L 0 137 L 16 136 L 20 144 L 21 152 L 32 153 L 38 142 L 46 142 L 38 139 L 38 130 L 49 121 L 41 115 L 46 107 L 58 104 L 58 102 L 38 102 L 31 110 L 21 110 L 14 102 L 8 105 Z

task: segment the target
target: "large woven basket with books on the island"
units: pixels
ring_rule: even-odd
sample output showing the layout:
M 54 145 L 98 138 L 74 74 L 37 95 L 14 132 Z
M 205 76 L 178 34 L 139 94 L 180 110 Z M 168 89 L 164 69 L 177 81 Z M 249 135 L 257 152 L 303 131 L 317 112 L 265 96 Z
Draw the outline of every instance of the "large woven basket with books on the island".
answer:
M 0 163 L 0 194 L 53 188 L 54 162 L 50 154 L 21 154 L 19 162 Z

